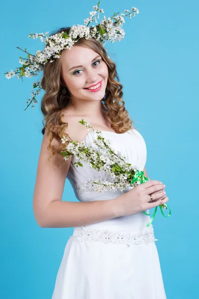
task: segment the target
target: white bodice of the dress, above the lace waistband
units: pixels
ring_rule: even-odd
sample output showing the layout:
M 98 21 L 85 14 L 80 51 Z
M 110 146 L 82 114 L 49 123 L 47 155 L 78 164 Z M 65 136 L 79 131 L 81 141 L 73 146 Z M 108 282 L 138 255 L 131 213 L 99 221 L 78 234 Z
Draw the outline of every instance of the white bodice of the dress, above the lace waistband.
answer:
M 129 131 L 117 134 L 109 131 L 101 131 L 100 135 L 104 137 L 104 140 L 110 141 L 110 147 L 114 152 L 119 151 L 122 155 L 127 158 L 127 162 L 131 163 L 132 166 L 138 166 L 139 170 L 143 170 L 146 157 L 147 149 L 144 138 L 136 129 L 130 129 Z M 90 131 L 84 138 L 85 146 L 92 146 L 93 149 L 97 150 L 97 145 L 93 143 L 93 140 L 97 139 L 97 134 L 95 131 Z M 74 162 L 77 162 L 78 158 L 75 155 L 72 156 L 70 168 L 67 174 L 67 178 L 70 181 L 75 195 L 79 201 L 96 201 L 96 200 L 108 200 L 118 197 L 122 194 L 122 191 L 117 189 L 117 191 L 94 191 L 91 187 L 91 181 L 102 178 L 104 173 L 90 167 L 88 162 L 82 162 L 83 167 L 77 167 Z M 133 187 L 129 186 L 123 190 L 127 192 Z M 146 210 L 149 213 L 149 210 Z M 115 227 L 118 229 L 134 230 L 135 232 L 142 232 L 143 230 L 150 230 L 153 228 L 151 224 L 146 227 L 146 224 L 150 220 L 150 216 L 144 213 L 137 213 L 130 216 L 122 216 L 114 219 L 110 219 L 103 222 L 98 222 L 95 224 L 88 225 L 87 227 Z

